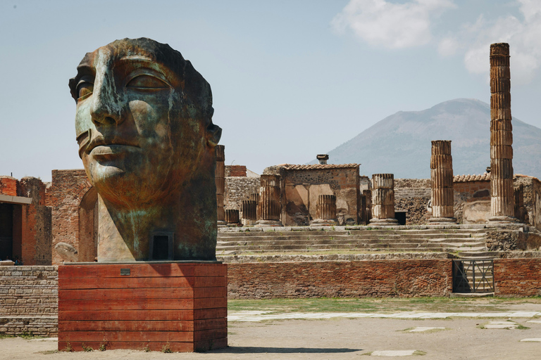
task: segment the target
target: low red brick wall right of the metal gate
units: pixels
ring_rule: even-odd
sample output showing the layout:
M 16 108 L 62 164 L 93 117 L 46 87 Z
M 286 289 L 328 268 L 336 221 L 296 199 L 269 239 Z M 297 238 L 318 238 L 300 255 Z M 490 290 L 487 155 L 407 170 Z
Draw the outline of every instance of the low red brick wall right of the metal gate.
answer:
M 540 296 L 541 259 L 495 259 L 496 296 Z

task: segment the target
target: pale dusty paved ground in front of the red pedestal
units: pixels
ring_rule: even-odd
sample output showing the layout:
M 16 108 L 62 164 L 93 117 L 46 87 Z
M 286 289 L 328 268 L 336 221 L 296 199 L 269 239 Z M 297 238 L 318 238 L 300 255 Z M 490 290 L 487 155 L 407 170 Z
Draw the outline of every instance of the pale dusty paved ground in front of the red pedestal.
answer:
M 0 359 L 540 359 L 541 304 L 520 311 L 230 312 L 227 349 L 195 354 L 55 352 L 56 340 L 0 340 Z M 359 357 L 362 356 L 362 357 Z M 409 356 L 409 357 L 408 357 Z

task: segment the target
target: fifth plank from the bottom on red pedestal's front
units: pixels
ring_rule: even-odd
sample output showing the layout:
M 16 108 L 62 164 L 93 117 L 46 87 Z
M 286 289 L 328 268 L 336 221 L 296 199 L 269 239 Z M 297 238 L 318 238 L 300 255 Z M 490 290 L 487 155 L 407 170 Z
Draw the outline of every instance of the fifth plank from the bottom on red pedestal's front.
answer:
M 214 300 L 220 297 L 201 299 Z M 211 301 L 200 301 L 199 309 L 211 306 Z M 187 310 L 194 309 L 193 299 L 123 299 L 123 300 L 58 300 L 58 311 L 93 311 L 93 310 Z

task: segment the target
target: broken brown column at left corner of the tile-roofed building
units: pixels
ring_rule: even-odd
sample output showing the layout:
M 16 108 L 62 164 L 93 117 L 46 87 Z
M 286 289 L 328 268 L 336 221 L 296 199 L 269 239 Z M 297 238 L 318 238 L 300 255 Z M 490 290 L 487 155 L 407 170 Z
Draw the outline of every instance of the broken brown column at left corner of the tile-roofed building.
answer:
M 256 226 L 282 226 L 280 222 L 280 175 L 261 175 L 259 188 L 259 212 L 261 219 Z

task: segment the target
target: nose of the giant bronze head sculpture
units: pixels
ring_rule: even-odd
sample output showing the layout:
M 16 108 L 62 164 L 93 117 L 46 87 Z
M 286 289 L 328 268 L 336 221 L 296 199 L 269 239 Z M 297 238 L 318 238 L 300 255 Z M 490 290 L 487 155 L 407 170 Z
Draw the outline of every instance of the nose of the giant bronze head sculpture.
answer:
M 105 70 L 96 75 L 92 93 L 91 115 L 96 126 L 122 122 L 120 94 L 110 71 Z

